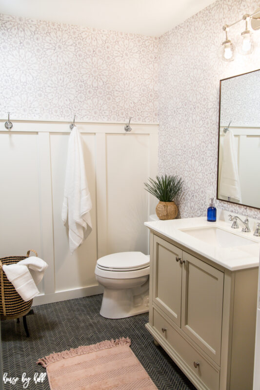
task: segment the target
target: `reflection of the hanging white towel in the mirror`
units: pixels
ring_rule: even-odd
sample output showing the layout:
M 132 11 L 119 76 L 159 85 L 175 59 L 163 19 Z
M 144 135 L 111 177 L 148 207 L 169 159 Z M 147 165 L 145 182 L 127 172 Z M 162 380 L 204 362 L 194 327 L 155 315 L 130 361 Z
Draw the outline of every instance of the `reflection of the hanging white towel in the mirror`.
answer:
M 238 153 L 232 130 L 229 130 L 223 139 L 219 195 L 230 196 L 241 203 Z

